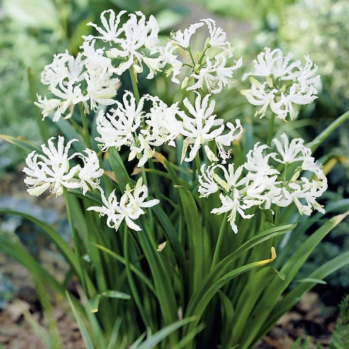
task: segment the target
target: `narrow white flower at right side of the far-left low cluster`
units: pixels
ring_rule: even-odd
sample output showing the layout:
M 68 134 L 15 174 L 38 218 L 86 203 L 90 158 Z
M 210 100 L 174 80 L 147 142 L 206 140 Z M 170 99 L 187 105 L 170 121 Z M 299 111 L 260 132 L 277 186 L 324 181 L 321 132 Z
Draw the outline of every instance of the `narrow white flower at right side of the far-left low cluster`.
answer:
M 87 156 L 79 156 L 83 161 L 83 167 L 79 170 L 78 174 L 83 195 L 85 195 L 89 189 L 88 185 L 90 185 L 92 189 L 97 188 L 99 185 L 99 177 L 104 173 L 104 170 L 99 167 L 99 160 L 95 151 L 85 149 L 84 153 L 86 153 Z

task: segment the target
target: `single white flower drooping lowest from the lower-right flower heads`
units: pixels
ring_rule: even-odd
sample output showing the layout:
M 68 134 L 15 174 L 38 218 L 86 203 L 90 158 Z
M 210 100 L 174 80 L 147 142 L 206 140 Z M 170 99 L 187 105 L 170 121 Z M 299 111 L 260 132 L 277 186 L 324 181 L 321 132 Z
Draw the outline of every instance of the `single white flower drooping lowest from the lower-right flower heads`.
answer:
M 238 233 L 238 226 L 235 224 L 237 213 L 239 213 L 240 216 L 244 219 L 250 219 L 254 215 L 245 214 L 244 210 L 249 208 L 249 206 L 240 203 L 239 191 L 237 189 L 233 190 L 233 198 L 231 198 L 228 195 L 223 195 L 221 193 L 220 199 L 222 202 L 222 206 L 219 208 L 213 208 L 211 210 L 211 213 L 220 215 L 222 213 L 230 211 L 230 213 L 228 215 L 228 222 L 230 222 L 230 225 L 231 225 L 234 233 L 237 234 Z

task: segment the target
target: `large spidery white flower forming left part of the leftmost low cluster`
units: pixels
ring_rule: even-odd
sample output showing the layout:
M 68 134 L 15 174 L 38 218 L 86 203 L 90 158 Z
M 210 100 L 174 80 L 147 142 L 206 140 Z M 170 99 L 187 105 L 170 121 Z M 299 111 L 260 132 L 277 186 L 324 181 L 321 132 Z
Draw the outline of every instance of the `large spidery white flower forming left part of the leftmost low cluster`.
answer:
M 79 172 L 80 166 L 74 166 L 69 169 L 68 151 L 71 143 L 76 142 L 76 139 L 69 141 L 64 147 L 64 137 L 58 136 L 57 148 L 54 146 L 51 137 L 48 140 L 48 147 L 45 144 L 41 145 L 44 155 L 37 154 L 32 151 L 26 159 L 28 167 L 23 169 L 27 174 L 24 183 L 28 186 L 28 192 L 31 195 L 38 196 L 45 190 L 50 188 L 51 193 L 56 193 L 56 196 L 62 195 L 63 187 L 79 188 L 79 180 L 74 176 Z M 73 155 L 74 157 L 75 155 Z

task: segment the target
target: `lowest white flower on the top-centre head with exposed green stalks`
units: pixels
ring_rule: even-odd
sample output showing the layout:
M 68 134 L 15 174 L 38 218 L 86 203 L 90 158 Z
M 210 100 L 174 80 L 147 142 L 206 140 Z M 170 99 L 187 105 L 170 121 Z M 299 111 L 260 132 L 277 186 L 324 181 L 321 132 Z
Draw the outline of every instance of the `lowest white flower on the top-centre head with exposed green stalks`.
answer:
M 206 57 L 206 67 L 200 68 L 198 74 L 191 74 L 190 76 L 197 81 L 187 88 L 188 91 L 203 88 L 204 82 L 209 93 L 220 93 L 223 86 L 231 86 L 233 84 L 233 71 L 240 68 L 242 65 L 242 58 L 235 61 L 233 66 L 225 66 L 226 58 L 223 55 L 217 55 L 214 62 Z

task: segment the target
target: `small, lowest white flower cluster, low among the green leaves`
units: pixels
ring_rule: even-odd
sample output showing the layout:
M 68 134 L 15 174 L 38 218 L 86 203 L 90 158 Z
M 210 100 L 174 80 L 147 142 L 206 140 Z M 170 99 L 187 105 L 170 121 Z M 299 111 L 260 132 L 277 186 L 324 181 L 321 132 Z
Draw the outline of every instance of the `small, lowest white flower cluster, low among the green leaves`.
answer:
M 145 214 L 142 207 L 151 207 L 159 204 L 158 199 L 144 202 L 148 196 L 148 188 L 144 184 L 142 185 L 142 183 L 142 178 L 140 178 L 133 190 L 131 190 L 127 184 L 120 202 L 118 202 L 117 197 L 115 196 L 115 189 L 107 199 L 103 190 L 99 188 L 104 205 L 90 206 L 87 210 L 99 212 L 99 216 L 107 216 L 107 225 L 115 230 L 119 229 L 121 222 L 125 219 L 125 222 L 130 229 L 140 231 L 142 230 L 141 227 L 133 221 Z

